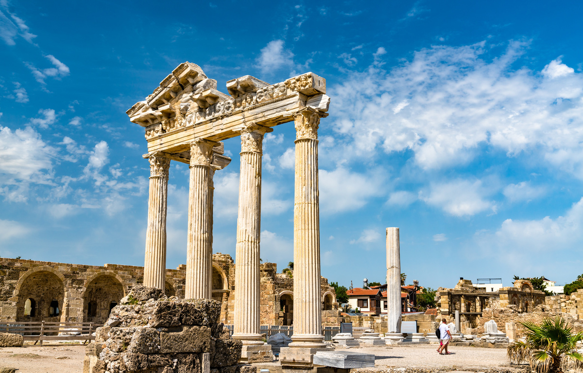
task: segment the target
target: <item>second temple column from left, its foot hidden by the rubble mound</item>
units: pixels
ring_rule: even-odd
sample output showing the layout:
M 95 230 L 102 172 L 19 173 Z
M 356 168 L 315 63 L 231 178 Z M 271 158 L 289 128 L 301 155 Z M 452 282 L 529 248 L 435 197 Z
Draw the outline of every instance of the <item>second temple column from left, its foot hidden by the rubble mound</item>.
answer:
M 212 155 L 216 143 L 196 140 L 190 147 L 188 239 L 185 298 L 210 299 L 212 283 Z

